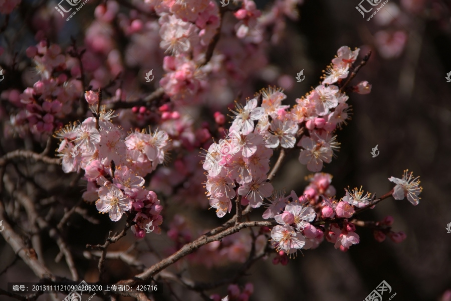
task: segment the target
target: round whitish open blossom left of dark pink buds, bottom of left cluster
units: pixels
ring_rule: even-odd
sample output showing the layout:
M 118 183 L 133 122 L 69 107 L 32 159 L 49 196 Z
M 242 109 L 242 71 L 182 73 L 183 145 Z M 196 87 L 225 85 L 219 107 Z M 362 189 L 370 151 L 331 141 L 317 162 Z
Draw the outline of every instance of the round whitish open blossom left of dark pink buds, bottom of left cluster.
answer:
M 113 222 L 121 219 L 124 211 L 132 208 L 131 199 L 124 195 L 114 184 L 108 184 L 99 189 L 99 199 L 96 208 L 102 213 L 107 213 Z

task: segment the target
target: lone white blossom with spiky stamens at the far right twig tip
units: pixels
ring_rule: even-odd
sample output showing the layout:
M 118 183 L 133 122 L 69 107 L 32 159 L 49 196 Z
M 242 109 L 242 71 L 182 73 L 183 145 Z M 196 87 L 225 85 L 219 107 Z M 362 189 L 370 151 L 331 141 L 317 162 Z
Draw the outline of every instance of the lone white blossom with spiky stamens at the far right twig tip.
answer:
M 418 195 L 423 190 L 422 187 L 419 186 L 420 181 L 419 177 L 413 178 L 413 173 L 409 170 L 404 171 L 404 175 L 402 179 L 398 179 L 395 177 L 391 177 L 388 180 L 396 184 L 393 188 L 393 198 L 395 200 L 403 200 L 404 197 L 407 197 L 407 200 L 413 205 L 418 205 L 419 200 L 421 199 Z

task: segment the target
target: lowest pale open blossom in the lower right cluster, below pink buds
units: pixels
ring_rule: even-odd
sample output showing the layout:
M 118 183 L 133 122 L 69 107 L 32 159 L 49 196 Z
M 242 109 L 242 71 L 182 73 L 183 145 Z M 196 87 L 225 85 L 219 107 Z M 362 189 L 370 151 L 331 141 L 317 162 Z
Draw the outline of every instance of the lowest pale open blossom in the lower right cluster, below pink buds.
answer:
M 276 250 L 283 250 L 287 254 L 296 253 L 297 249 L 305 245 L 304 236 L 288 224 L 275 226 L 271 231 L 271 238 L 277 243 Z

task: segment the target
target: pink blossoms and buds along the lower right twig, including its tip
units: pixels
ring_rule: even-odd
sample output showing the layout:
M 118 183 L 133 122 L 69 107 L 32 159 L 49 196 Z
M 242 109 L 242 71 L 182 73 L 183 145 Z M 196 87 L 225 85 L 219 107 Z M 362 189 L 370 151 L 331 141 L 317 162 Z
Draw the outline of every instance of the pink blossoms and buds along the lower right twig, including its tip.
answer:
M 274 263 L 286 262 L 283 253 L 293 254 L 298 249 L 318 247 L 324 237 L 342 251 L 359 243 L 359 235 L 355 233 L 356 222 L 350 218 L 360 208 L 373 208 L 371 194 L 364 193 L 361 187 L 353 190 L 348 188 L 345 189 L 345 196 L 336 202 L 335 196 L 331 197 L 332 192 L 335 194 L 335 189 L 330 185 L 331 179 L 331 175 L 317 173 L 311 177 L 311 184 L 300 198 L 292 191 L 288 197 L 280 194 L 270 200 L 271 204 L 263 214 L 263 218 L 274 218 L 280 224 L 271 231 L 276 250 L 280 253 Z M 413 178 L 412 173 L 408 174 L 405 171 L 402 179 L 391 177 L 389 180 L 396 183 L 392 193 L 395 200 L 407 197 L 413 205 L 418 204 L 420 199 L 418 195 L 422 188 L 419 186 L 418 178 Z M 315 200 L 315 197 L 320 197 L 322 201 Z M 312 225 L 315 221 L 323 222 L 324 225 L 317 228 Z M 373 223 L 374 238 L 379 242 L 384 241 L 386 236 L 396 243 L 404 240 L 405 233 L 392 231 L 392 224 L 391 216 Z

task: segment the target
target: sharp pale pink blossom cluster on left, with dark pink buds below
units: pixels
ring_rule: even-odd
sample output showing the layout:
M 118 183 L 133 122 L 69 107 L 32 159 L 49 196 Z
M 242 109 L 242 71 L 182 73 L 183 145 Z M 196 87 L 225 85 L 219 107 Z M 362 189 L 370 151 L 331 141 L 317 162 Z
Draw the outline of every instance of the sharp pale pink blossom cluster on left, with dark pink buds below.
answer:
M 159 233 L 162 206 L 155 192 L 144 189 L 143 177 L 165 161 L 170 148 L 167 133 L 156 130 L 126 134 L 111 122 L 117 116 L 112 110 L 102 107 L 97 112 L 100 100 L 96 92 L 87 91 L 85 98 L 96 117 L 67 125 L 55 135 L 61 139 L 57 151 L 63 171 L 84 170 L 88 186 L 83 198 L 96 201 L 97 210 L 108 213 L 112 221 L 130 211 L 136 222 L 132 231 L 137 237 L 144 237 L 144 230 L 150 226 Z

